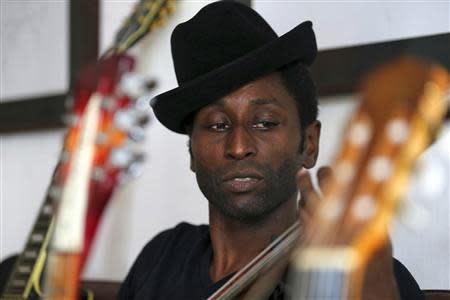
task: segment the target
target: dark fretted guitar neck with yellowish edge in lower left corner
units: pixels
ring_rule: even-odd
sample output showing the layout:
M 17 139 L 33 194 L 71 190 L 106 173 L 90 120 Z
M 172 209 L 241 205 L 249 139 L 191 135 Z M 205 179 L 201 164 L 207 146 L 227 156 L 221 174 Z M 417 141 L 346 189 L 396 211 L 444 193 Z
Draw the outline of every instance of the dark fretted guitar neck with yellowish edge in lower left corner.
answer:
M 1 300 L 28 299 L 33 292 L 41 293 L 40 278 L 54 223 L 53 200 L 49 194 L 41 205 L 25 248 L 14 264 Z

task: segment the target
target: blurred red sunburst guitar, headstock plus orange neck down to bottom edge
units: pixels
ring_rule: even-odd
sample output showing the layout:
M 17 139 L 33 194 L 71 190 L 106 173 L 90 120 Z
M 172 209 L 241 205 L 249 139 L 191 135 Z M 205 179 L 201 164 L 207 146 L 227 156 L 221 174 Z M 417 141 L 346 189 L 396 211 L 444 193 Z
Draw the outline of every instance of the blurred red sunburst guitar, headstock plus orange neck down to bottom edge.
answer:
M 133 67 L 131 57 L 112 55 L 81 73 L 53 187 L 58 207 L 44 299 L 78 299 L 80 273 L 101 214 L 121 177 L 142 160 L 130 138 L 142 139 L 148 118 L 131 93 L 145 83 L 132 77 Z M 134 80 L 137 84 L 130 83 Z

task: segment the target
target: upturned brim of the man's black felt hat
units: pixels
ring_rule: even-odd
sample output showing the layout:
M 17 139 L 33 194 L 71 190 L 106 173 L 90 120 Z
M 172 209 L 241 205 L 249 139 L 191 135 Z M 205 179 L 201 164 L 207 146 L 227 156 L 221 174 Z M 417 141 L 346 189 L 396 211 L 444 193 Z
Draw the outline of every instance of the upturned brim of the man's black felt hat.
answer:
M 186 134 L 183 121 L 189 114 L 291 62 L 309 66 L 316 54 L 312 23 L 306 21 L 263 47 L 154 97 L 150 105 L 164 126 Z

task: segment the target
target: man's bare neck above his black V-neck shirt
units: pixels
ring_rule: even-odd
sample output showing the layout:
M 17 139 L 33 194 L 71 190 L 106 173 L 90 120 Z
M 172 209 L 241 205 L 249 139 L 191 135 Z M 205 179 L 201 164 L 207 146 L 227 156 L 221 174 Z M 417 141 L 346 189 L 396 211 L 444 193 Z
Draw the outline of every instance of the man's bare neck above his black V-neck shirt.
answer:
M 211 206 L 209 211 L 213 282 L 243 268 L 298 220 L 295 199 L 284 202 L 264 220 L 252 224 L 226 217 Z

